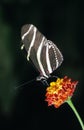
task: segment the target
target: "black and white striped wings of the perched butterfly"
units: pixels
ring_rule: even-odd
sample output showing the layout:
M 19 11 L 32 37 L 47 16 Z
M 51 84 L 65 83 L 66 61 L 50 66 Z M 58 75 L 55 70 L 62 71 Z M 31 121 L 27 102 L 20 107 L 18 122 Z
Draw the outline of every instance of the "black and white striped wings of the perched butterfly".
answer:
M 60 50 L 32 24 L 22 27 L 21 38 L 27 51 L 27 60 L 30 58 L 40 75 L 48 78 L 63 61 Z

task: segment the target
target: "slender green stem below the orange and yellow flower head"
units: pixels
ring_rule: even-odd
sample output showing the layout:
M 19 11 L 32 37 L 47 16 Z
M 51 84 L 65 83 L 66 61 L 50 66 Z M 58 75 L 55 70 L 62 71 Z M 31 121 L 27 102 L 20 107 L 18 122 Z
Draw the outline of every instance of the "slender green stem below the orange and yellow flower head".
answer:
M 77 117 L 77 119 L 78 119 L 78 121 L 79 121 L 79 123 L 80 123 L 80 125 L 81 125 L 82 130 L 84 130 L 83 121 L 82 121 L 80 115 L 78 114 L 78 112 L 77 112 L 75 106 L 73 105 L 71 99 L 67 100 L 67 103 L 68 103 L 68 105 L 71 107 L 71 109 L 73 110 L 74 114 L 76 115 L 76 117 Z

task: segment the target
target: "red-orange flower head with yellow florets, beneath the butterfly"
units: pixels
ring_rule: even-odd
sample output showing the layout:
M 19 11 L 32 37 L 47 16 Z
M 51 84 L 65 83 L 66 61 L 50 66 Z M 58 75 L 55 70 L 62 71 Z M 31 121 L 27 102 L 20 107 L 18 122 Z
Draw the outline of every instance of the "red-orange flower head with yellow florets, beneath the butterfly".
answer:
M 46 89 L 46 99 L 48 106 L 54 105 L 58 108 L 72 97 L 78 81 L 71 81 L 70 78 L 57 78 L 56 82 L 51 82 Z

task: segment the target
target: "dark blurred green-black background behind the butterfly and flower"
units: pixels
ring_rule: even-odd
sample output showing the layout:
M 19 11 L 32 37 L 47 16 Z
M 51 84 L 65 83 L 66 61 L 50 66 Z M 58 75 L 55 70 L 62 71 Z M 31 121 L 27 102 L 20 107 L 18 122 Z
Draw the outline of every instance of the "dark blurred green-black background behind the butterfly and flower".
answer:
M 0 0 L 0 128 L 81 130 L 67 104 L 48 107 L 46 86 L 21 51 L 21 27 L 32 23 L 57 44 L 64 62 L 53 73 L 79 84 L 72 98 L 84 120 L 83 11 L 80 0 Z M 82 7 L 81 7 L 82 8 Z

